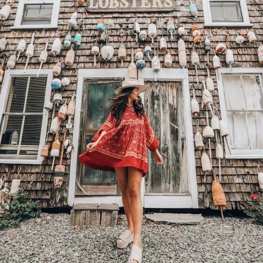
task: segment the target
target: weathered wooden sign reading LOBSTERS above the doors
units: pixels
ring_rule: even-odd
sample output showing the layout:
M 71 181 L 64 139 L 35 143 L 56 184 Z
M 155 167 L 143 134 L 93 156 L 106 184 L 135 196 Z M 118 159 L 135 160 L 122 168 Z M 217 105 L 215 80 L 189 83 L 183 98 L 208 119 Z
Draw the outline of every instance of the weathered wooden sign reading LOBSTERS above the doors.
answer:
M 174 8 L 175 0 L 87 0 L 90 12 L 152 12 Z

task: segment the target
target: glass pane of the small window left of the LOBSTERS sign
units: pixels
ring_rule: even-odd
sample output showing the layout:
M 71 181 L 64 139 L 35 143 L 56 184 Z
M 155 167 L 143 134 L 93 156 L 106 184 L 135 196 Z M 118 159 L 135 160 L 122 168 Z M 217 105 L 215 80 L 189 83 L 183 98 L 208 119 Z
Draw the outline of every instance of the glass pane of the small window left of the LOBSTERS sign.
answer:
M 53 4 L 25 4 L 21 25 L 50 24 Z

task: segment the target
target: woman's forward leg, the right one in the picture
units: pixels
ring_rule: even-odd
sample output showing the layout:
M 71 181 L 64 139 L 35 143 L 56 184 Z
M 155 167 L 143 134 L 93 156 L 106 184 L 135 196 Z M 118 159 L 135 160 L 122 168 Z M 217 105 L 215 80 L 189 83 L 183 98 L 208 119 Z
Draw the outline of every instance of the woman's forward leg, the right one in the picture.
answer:
M 131 217 L 134 229 L 133 245 L 141 247 L 141 229 L 143 221 L 143 203 L 141 182 L 143 173 L 135 167 L 128 167 L 128 187 L 131 199 Z M 135 261 L 137 262 L 137 261 Z

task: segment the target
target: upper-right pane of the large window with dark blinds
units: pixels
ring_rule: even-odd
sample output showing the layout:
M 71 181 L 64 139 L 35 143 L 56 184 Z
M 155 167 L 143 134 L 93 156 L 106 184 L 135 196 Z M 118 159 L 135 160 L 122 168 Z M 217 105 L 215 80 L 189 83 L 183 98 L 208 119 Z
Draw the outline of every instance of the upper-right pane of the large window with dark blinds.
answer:
M 41 113 L 44 107 L 46 77 L 30 77 L 26 113 Z

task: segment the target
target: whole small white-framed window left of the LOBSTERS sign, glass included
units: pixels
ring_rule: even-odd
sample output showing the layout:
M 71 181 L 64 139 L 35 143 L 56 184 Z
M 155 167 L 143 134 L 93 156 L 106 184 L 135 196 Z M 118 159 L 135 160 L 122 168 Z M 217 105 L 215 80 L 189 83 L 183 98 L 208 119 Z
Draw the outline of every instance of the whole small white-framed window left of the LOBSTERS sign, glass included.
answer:
M 56 28 L 60 0 L 20 0 L 14 28 Z

